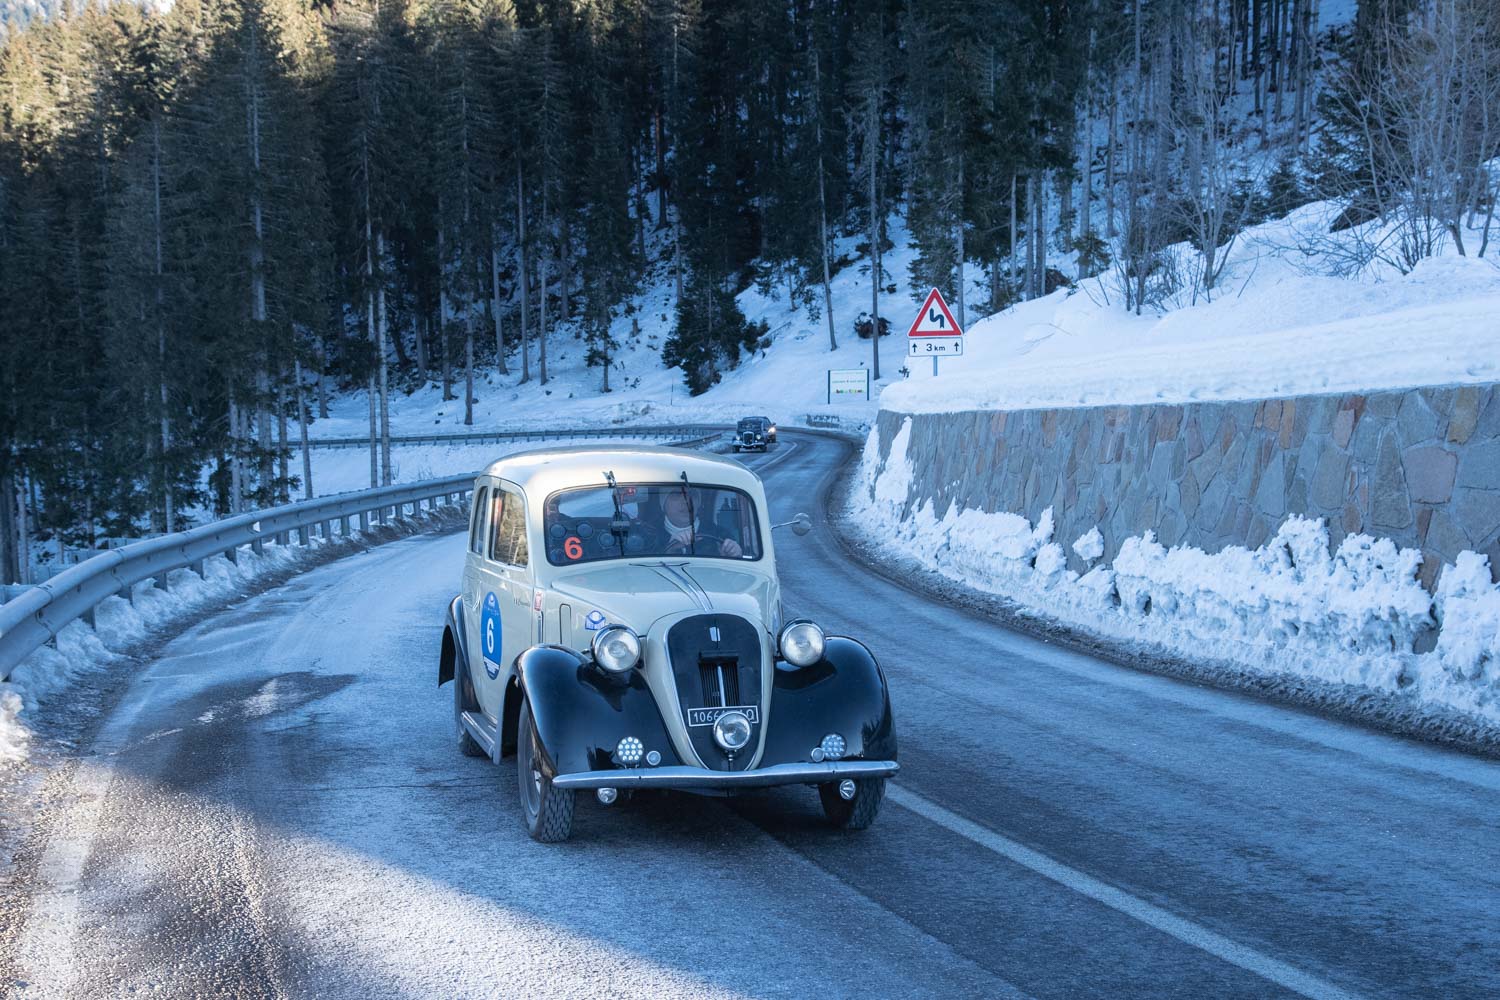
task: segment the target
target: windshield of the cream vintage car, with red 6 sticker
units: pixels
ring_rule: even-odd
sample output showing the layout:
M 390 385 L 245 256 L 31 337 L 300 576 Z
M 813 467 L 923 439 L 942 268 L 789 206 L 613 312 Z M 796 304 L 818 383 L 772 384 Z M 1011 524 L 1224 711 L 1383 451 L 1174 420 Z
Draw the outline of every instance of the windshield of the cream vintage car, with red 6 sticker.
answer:
M 759 559 L 754 501 L 704 483 L 620 483 L 561 490 L 542 519 L 548 562 L 704 556 Z

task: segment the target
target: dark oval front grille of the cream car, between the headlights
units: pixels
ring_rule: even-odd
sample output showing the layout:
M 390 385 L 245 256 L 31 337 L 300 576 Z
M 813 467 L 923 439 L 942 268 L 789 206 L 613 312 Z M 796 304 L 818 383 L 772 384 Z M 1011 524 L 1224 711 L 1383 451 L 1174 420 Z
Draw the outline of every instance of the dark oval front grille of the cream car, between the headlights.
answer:
M 693 615 L 666 634 L 668 657 L 682 723 L 706 766 L 742 771 L 760 744 L 760 630 L 738 615 Z M 722 709 L 738 708 L 750 715 L 750 747 L 734 760 L 714 742 L 712 720 Z

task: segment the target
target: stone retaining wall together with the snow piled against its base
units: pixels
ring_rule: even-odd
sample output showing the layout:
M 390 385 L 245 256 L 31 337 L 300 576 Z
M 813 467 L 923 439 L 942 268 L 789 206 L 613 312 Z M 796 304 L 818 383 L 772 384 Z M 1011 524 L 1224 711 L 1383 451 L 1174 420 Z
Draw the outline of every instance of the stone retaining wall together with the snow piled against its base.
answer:
M 1500 387 L 882 411 L 850 504 L 892 555 L 1128 648 L 1500 723 Z

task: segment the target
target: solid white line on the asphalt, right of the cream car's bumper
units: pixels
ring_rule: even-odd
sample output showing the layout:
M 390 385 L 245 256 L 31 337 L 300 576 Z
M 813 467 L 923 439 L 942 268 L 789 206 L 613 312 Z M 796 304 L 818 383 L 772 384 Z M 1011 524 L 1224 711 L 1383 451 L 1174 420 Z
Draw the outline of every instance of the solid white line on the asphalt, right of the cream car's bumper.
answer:
M 957 813 L 945 810 L 932 799 L 927 799 L 910 789 L 891 784 L 886 789 L 885 796 L 897 805 L 938 823 L 958 837 L 974 841 L 980 847 L 987 847 L 996 855 L 1014 861 L 1023 868 L 1029 868 L 1042 879 L 1048 879 L 1060 886 L 1072 889 L 1077 894 L 1086 895 L 1095 903 L 1102 903 L 1112 910 L 1134 918 L 1142 924 L 1161 931 L 1162 934 L 1170 934 L 1184 945 L 1208 952 L 1209 955 L 1221 958 L 1232 966 L 1239 966 L 1245 972 L 1251 972 L 1262 979 L 1269 979 L 1270 982 L 1286 987 L 1287 990 L 1304 997 L 1353 1000 L 1358 996 L 1348 993 L 1347 990 L 1340 990 L 1317 976 L 1293 969 L 1292 966 L 1270 958 L 1269 955 L 1263 955 L 1252 948 L 1232 942 L 1222 934 L 1215 934 L 1192 921 L 1168 913 L 1167 910 L 1146 903 L 1138 897 L 1132 897 L 1124 889 L 1116 889 L 1106 882 L 1100 882 L 1094 876 L 1086 876 L 1082 871 L 1070 868 L 1068 865 L 1054 861 L 1041 852 L 1032 850 L 1010 837 L 1004 837 L 992 829 L 980 826 L 978 823 L 966 820 Z

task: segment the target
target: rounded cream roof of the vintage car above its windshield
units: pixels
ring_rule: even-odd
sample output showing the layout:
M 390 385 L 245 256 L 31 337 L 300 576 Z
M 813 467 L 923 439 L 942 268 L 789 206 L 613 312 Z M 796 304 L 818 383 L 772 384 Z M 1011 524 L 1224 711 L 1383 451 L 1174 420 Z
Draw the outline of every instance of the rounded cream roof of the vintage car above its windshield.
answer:
M 762 493 L 760 477 L 732 459 L 645 444 L 522 451 L 492 462 L 480 475 L 502 478 L 540 498 L 574 486 L 603 486 L 606 471 L 621 483 L 672 483 L 687 472 L 692 483 Z

